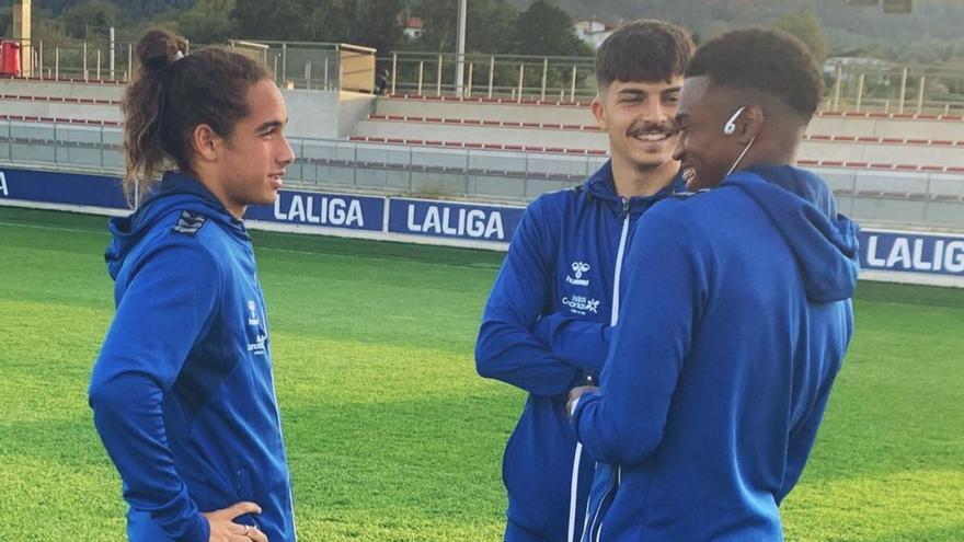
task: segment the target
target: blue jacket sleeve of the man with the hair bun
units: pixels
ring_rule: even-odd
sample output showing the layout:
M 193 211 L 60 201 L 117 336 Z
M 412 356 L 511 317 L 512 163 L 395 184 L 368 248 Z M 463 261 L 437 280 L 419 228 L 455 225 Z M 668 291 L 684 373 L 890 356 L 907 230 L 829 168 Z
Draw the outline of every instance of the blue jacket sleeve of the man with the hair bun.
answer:
M 207 250 L 176 235 L 136 264 L 91 376 L 94 425 L 130 507 L 174 540 L 207 541 L 208 522 L 174 468 L 162 405 L 210 324 L 221 275 Z

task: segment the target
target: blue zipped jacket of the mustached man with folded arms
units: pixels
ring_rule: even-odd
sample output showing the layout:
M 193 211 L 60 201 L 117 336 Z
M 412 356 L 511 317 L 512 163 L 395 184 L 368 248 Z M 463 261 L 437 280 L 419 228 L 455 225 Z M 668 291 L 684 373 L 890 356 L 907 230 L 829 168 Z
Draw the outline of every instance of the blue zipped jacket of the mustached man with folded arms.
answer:
M 503 459 L 508 541 L 565 541 L 570 530 L 581 532 L 594 461 L 576 457 L 566 393 L 602 367 L 632 226 L 682 189 L 678 177 L 653 197 L 624 200 L 607 162 L 582 185 L 540 196 L 523 216 L 475 346 L 481 376 L 529 392 Z

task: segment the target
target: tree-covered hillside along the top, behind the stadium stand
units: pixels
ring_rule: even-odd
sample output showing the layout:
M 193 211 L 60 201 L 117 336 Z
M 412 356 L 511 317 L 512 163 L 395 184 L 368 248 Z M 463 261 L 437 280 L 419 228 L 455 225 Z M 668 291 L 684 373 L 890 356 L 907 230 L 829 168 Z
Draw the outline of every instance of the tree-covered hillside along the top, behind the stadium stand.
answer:
M 12 0 L 0 0 L 8 33 Z M 115 26 L 129 41 L 150 24 L 172 26 L 194 43 L 228 37 L 349 42 L 389 50 L 454 51 L 457 0 L 34 0 L 34 35 L 58 43 L 96 41 Z M 7 19 L 4 20 L 4 16 Z M 423 35 L 403 35 L 420 18 Z M 588 56 L 569 22 L 610 24 L 658 18 L 690 28 L 698 41 L 731 28 L 768 24 L 804 38 L 818 57 L 872 56 L 905 64 L 964 66 L 964 2 L 915 0 L 909 15 L 845 0 L 470 0 L 469 51 Z

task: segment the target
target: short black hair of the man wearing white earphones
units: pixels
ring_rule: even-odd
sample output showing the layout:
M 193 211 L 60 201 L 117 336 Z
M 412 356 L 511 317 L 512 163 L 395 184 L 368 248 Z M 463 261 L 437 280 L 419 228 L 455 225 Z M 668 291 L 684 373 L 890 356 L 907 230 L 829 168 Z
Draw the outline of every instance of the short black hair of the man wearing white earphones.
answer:
M 687 78 L 699 76 L 709 77 L 712 85 L 777 97 L 805 122 L 824 93 L 824 80 L 803 42 L 770 28 L 737 30 L 707 42 L 686 70 Z

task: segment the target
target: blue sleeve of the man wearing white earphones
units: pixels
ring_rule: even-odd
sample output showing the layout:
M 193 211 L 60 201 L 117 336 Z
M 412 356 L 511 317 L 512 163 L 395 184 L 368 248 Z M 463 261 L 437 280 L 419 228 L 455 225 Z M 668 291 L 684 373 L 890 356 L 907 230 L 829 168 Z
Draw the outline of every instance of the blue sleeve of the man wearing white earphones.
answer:
M 673 205 L 650 210 L 636 228 L 626 268 L 631 280 L 612 330 L 599 393 L 584 395 L 572 424 L 598 461 L 636 464 L 663 439 L 679 373 L 708 289 L 686 220 Z M 631 278 L 630 278 L 631 277 Z

